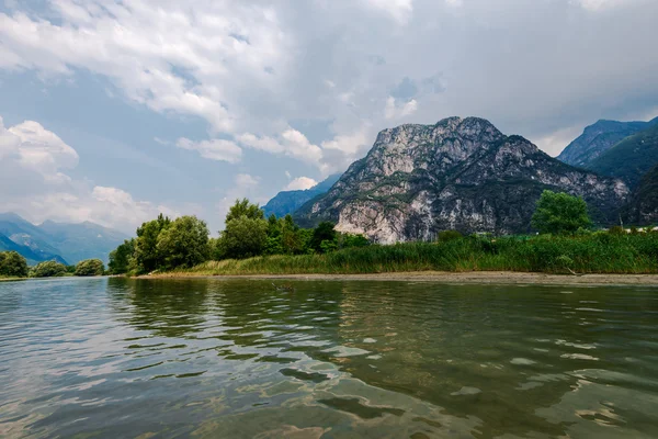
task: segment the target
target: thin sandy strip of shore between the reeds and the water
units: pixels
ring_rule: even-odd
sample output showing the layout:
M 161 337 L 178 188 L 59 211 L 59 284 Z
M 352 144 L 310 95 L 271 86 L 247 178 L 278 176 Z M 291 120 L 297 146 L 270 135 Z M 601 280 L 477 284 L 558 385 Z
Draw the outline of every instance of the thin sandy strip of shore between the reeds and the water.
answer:
M 545 284 L 545 285 L 646 285 L 658 288 L 658 274 L 583 274 L 563 275 L 509 271 L 443 272 L 419 271 L 374 274 L 241 274 L 201 275 L 164 273 L 140 279 L 272 279 L 272 280 L 345 280 L 345 281 L 416 281 L 475 284 Z

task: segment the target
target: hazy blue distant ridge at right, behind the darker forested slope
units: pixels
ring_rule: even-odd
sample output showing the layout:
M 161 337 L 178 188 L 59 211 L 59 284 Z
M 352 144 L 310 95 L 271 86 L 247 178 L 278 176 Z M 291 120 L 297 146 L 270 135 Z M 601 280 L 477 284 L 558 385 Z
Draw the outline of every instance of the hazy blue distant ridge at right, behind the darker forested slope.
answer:
M 599 121 L 585 128 L 557 157 L 567 165 L 588 168 L 589 164 L 624 138 L 658 124 L 650 122 Z

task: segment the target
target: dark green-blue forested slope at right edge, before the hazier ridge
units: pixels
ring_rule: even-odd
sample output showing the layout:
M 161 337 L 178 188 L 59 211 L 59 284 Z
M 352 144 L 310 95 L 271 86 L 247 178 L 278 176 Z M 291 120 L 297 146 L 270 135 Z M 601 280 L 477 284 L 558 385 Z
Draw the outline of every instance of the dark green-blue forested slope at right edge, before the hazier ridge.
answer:
M 658 165 L 658 124 L 624 138 L 588 165 L 603 176 L 616 177 L 629 187 Z

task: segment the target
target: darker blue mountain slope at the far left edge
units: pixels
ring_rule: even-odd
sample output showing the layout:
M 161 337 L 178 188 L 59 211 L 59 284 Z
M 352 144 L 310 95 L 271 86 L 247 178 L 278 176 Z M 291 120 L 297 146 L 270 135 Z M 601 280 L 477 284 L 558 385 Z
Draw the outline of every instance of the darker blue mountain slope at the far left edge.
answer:
M 16 250 L 32 262 L 53 259 L 63 263 L 67 262 L 60 251 L 52 245 L 47 233 L 14 213 L 0 214 L 0 234 L 19 246 L 8 248 L 9 244 L 0 244 L 0 250 Z

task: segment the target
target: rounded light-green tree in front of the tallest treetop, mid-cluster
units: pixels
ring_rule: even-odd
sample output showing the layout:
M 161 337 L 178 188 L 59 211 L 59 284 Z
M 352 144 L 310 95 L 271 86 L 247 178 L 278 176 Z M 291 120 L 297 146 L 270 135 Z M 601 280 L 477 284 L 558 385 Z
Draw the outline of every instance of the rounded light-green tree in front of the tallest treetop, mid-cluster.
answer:
M 250 258 L 260 256 L 268 243 L 268 222 L 242 215 L 226 223 L 219 237 L 222 258 Z

